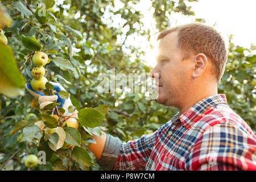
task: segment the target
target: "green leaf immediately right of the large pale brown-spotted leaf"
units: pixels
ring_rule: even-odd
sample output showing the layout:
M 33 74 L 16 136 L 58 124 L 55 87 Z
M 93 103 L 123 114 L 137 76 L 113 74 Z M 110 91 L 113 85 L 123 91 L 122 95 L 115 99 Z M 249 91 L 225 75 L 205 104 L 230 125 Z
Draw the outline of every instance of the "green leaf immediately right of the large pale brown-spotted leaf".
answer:
M 81 144 L 81 135 L 79 130 L 74 127 L 66 127 L 64 129 L 66 133 L 65 142 L 72 144 L 73 146 L 80 146 Z

